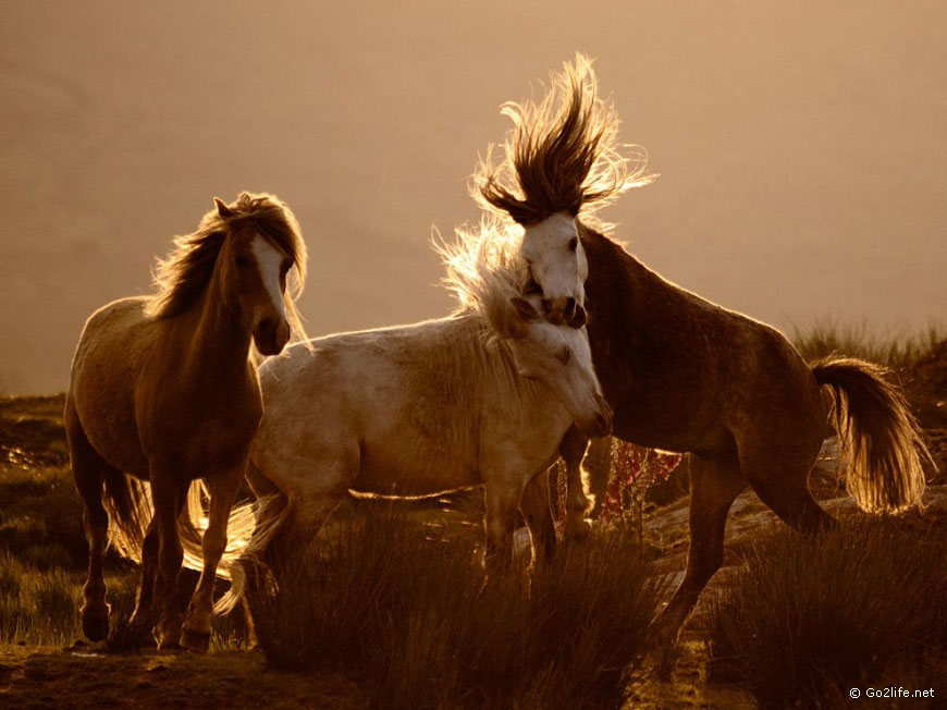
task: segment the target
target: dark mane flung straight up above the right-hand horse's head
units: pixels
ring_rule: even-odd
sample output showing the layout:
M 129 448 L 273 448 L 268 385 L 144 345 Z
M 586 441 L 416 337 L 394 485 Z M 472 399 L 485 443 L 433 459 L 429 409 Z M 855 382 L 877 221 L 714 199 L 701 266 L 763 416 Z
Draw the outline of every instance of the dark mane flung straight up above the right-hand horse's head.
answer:
M 552 74 L 539 103 L 504 103 L 502 113 L 514 124 L 503 159 L 494 163 L 488 147 L 470 193 L 484 209 L 520 224 L 593 211 L 655 176 L 645 173 L 643 148 L 627 146 L 630 158 L 619 151 L 620 122 L 612 103 L 598 97 L 592 62 L 582 54 Z

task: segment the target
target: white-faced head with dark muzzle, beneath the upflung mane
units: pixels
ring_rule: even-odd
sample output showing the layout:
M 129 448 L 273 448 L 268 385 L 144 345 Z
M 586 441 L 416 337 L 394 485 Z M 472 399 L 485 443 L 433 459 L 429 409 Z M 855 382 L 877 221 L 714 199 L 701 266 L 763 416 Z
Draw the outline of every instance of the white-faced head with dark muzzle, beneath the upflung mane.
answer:
M 556 212 L 524 230 L 520 254 L 529 265 L 527 293 L 542 296 L 553 325 L 586 325 L 586 278 L 589 262 L 576 230 L 576 219 Z

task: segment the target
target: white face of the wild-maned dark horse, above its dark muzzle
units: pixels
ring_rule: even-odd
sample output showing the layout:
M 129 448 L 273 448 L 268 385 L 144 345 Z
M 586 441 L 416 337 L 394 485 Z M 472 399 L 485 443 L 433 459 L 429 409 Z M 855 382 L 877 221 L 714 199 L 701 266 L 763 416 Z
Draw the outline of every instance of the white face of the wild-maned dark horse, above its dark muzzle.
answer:
M 543 298 L 551 302 L 553 308 L 562 308 L 567 298 L 575 298 L 579 306 L 585 305 L 589 262 L 574 217 L 556 212 L 527 227 L 520 255 L 529 264 Z

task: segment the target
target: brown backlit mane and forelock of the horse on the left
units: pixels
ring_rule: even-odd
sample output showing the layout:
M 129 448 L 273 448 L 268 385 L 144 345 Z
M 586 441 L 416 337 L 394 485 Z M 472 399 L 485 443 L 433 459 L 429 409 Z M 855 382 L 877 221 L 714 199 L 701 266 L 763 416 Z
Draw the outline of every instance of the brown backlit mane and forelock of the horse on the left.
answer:
M 226 207 L 226 217 L 220 212 L 217 207 L 208 211 L 196 232 L 174 237 L 174 249 L 164 259 L 158 259 L 153 271 L 158 293 L 149 303 L 148 311 L 157 318 L 172 318 L 189 308 L 207 289 L 227 234 L 249 228 L 293 259 L 295 276 L 285 297 L 286 316 L 302 336 L 303 327 L 294 302 L 306 282 L 306 244 L 295 216 L 274 195 L 246 192 Z

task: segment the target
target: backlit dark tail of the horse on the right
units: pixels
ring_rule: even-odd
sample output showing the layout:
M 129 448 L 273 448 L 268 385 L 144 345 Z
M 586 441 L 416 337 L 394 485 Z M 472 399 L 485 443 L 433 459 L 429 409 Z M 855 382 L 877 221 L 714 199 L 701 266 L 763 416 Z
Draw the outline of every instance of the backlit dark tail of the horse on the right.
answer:
M 833 357 L 812 365 L 820 384 L 835 395 L 839 472 L 859 507 L 897 513 L 920 506 L 924 494 L 922 463 L 934 465 L 918 420 L 889 371 L 856 358 Z

